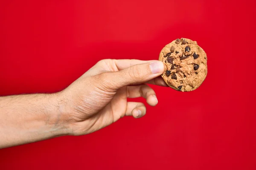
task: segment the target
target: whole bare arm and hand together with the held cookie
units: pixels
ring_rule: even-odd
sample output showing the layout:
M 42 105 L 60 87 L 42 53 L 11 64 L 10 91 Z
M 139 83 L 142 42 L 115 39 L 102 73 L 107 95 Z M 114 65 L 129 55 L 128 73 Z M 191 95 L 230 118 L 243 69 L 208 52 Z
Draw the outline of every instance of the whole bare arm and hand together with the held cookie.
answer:
M 149 105 L 157 105 L 147 83 L 192 91 L 207 75 L 206 54 L 188 39 L 166 45 L 159 60 L 104 59 L 61 92 L 1 97 L 1 111 L 8 114 L 1 115 L 5 140 L 0 148 L 92 133 L 123 116 L 140 118 L 145 105 L 127 98 L 143 97 Z

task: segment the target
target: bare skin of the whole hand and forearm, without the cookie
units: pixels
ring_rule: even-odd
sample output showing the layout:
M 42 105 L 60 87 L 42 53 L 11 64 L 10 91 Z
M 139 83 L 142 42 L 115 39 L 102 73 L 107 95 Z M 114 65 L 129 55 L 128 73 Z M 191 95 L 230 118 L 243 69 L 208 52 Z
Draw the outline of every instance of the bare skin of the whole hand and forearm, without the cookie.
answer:
M 157 105 L 147 84 L 166 86 L 163 62 L 104 59 L 55 94 L 0 97 L 0 148 L 65 135 L 85 135 L 123 116 L 140 118 L 146 108 L 127 98 L 144 97 Z

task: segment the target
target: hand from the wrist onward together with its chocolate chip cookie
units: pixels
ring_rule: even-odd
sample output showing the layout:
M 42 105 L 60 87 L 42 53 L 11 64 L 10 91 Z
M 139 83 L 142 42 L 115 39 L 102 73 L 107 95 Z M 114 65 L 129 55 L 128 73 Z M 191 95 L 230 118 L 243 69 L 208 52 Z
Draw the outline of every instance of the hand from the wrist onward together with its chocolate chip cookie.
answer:
M 123 116 L 145 115 L 143 103 L 127 102 L 127 98 L 144 97 L 149 105 L 157 105 L 156 94 L 147 83 L 192 91 L 207 75 L 206 53 L 189 39 L 177 39 L 166 45 L 159 60 L 99 61 L 59 93 L 64 101 L 60 119 L 72 135 L 92 133 Z

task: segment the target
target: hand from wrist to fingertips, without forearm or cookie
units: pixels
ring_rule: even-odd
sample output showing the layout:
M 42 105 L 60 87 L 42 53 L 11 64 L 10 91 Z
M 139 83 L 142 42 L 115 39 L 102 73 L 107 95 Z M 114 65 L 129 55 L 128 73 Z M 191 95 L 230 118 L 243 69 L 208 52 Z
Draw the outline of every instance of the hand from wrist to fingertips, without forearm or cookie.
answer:
M 154 90 L 145 83 L 167 86 L 161 77 L 163 62 L 135 59 L 104 59 L 58 93 L 61 113 L 57 117 L 70 130 L 70 135 L 92 133 L 116 122 L 123 116 L 140 118 L 146 108 L 127 98 L 144 97 L 157 105 Z

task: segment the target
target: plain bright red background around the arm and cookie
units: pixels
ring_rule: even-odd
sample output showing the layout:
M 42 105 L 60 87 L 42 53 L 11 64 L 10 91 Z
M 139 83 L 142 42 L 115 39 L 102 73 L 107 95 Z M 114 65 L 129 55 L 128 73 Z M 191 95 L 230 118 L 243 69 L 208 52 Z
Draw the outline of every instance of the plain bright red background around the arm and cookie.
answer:
M 195 91 L 86 136 L 0 150 L 0 169 L 256 169 L 255 0 L 5 0 L 0 95 L 56 92 L 98 60 L 158 59 L 176 38 L 207 52 Z M 143 99 L 138 99 L 144 101 Z

